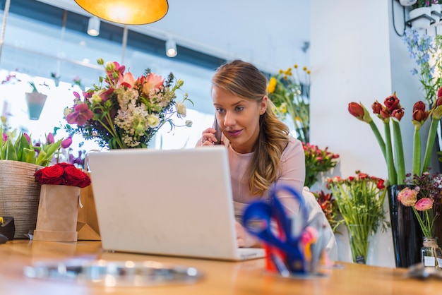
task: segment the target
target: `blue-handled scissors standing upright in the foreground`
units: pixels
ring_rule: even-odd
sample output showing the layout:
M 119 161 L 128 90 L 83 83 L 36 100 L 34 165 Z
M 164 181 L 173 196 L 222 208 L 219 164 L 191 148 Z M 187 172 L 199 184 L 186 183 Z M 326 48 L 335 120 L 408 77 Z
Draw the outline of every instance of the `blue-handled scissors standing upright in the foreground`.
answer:
M 284 206 L 277 198 L 277 192 L 287 191 L 298 201 L 301 209 L 301 231 L 293 227 L 292 217 L 287 216 Z M 308 212 L 304 198 L 294 188 L 286 185 L 275 186 L 270 203 L 257 200 L 250 203 L 244 210 L 243 224 L 247 231 L 258 237 L 269 246 L 279 249 L 285 254 L 287 267 L 292 272 L 306 272 L 306 259 L 301 251 L 301 234 L 307 226 Z M 277 232 L 272 230 L 271 222 L 277 223 Z M 299 225 L 299 224 L 295 224 Z

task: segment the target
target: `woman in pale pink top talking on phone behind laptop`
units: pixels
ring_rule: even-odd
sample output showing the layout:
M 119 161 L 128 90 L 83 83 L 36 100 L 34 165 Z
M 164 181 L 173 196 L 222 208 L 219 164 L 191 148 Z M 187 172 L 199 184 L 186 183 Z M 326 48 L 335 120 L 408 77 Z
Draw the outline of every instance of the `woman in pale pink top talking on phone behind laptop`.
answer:
M 273 113 L 265 76 L 252 64 L 235 60 L 220 66 L 212 83 L 215 119 L 222 137 L 217 140 L 216 130 L 207 128 L 198 145 L 221 143 L 227 147 L 237 220 L 251 200 L 268 199 L 276 183 L 301 192 L 305 179 L 304 150 Z M 292 195 L 278 196 L 287 214 L 298 212 Z M 239 222 L 237 241 L 240 247 L 258 245 Z

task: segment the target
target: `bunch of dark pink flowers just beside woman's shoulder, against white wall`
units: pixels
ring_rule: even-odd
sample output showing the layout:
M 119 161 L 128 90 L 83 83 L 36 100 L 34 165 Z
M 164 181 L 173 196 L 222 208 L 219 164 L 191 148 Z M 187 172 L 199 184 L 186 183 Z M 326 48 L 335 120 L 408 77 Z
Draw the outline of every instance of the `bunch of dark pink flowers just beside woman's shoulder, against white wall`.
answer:
M 318 181 L 318 174 L 328 171 L 338 164 L 338 154 L 329 152 L 328 148 L 321 150 L 317 145 L 302 143 L 306 162 L 306 180 L 304 186 L 309 188 Z

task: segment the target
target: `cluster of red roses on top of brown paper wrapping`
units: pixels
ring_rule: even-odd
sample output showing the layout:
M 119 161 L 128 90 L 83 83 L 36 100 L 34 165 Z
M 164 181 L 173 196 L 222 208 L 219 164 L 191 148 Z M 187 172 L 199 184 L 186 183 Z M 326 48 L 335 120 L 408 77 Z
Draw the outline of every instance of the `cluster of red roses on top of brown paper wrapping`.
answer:
M 35 172 L 35 179 L 40 184 L 59 184 L 62 186 L 78 186 L 85 188 L 90 185 L 90 177 L 73 164 L 57 163 Z

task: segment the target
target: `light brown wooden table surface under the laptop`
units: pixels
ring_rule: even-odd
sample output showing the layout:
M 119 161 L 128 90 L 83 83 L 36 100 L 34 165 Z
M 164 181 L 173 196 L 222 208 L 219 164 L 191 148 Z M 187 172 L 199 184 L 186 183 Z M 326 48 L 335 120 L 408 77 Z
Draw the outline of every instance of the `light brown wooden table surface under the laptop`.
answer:
M 26 265 L 68 258 L 104 260 L 155 260 L 196 267 L 203 279 L 192 284 L 148 287 L 103 287 L 23 275 Z M 0 245 L 0 291 L 2 294 L 442 294 L 442 280 L 410 279 L 405 269 L 342 263 L 342 268 L 323 270 L 324 277 L 287 279 L 264 271 L 264 260 L 226 262 L 102 251 L 100 241 L 56 243 L 15 240 Z

